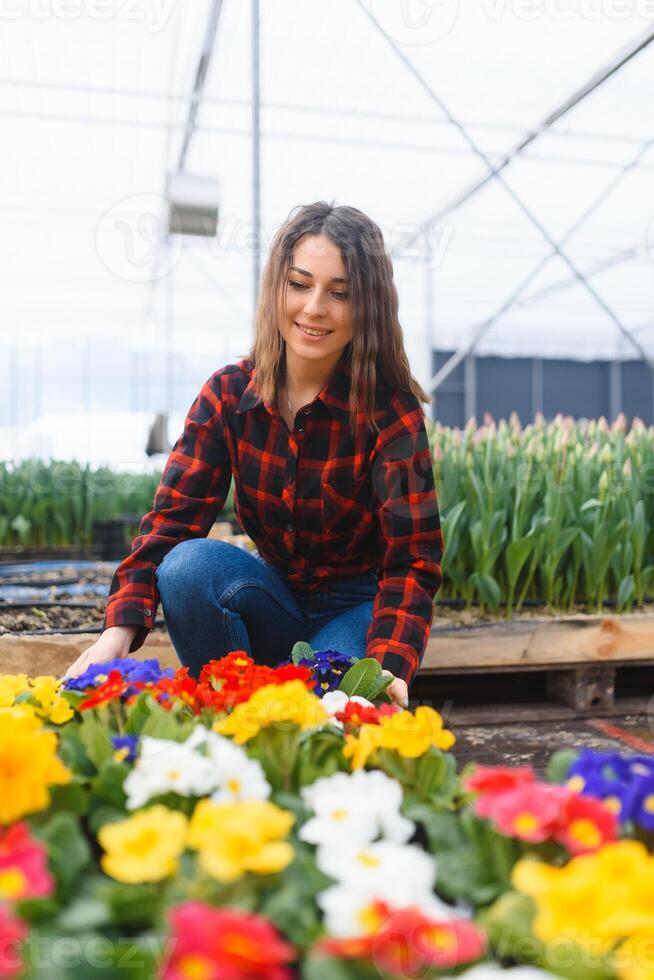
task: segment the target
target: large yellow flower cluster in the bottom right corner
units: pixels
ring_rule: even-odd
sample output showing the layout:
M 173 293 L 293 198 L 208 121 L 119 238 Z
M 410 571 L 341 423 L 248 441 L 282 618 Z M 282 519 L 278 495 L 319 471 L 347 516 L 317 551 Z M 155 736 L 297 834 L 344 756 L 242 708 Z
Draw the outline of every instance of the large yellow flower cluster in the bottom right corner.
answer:
M 639 930 L 654 929 L 654 857 L 639 841 L 606 844 L 564 867 L 523 859 L 513 869 L 514 886 L 536 904 L 538 939 L 599 943 L 608 952 Z

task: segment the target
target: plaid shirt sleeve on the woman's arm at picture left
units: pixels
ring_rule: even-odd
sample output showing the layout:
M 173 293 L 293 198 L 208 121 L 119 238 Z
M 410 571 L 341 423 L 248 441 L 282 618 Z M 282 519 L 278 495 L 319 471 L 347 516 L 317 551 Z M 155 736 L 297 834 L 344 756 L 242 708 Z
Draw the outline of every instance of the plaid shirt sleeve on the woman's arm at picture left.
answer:
M 143 645 L 154 625 L 157 567 L 180 541 L 207 536 L 229 492 L 231 464 L 220 396 L 223 370 L 205 382 L 191 405 L 152 510 L 141 519 L 131 553 L 116 569 L 109 589 L 103 628 L 135 626 L 129 653 Z

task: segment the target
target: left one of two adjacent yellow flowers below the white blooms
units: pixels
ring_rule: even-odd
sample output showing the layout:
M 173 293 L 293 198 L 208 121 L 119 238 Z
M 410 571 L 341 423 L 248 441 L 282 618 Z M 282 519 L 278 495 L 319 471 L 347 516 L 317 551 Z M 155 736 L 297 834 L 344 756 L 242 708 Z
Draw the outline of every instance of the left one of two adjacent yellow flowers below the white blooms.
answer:
M 187 831 L 184 814 L 160 804 L 126 820 L 105 824 L 98 832 L 98 841 L 106 852 L 101 859 L 102 869 L 112 878 L 130 884 L 161 881 L 177 871 Z

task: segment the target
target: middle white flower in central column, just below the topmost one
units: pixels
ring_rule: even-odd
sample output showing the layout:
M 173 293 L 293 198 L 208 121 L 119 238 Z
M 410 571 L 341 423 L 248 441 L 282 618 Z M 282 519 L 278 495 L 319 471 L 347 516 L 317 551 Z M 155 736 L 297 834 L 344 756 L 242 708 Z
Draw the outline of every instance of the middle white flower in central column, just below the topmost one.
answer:
M 316 864 L 344 888 L 394 908 L 430 905 L 434 900 L 436 862 L 411 844 L 381 840 L 359 846 L 321 846 Z

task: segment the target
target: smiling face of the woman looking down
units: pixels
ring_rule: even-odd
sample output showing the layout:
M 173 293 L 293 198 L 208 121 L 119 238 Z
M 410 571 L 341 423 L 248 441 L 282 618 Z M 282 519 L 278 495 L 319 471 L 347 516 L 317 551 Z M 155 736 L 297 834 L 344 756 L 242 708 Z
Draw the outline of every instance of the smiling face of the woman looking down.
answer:
M 340 250 L 331 239 L 305 235 L 296 243 L 285 300 L 280 332 L 287 356 L 290 348 L 297 358 L 336 364 L 352 339 L 353 324 L 347 273 Z

